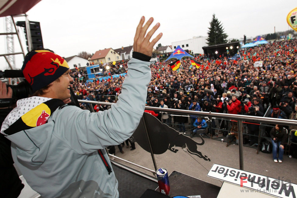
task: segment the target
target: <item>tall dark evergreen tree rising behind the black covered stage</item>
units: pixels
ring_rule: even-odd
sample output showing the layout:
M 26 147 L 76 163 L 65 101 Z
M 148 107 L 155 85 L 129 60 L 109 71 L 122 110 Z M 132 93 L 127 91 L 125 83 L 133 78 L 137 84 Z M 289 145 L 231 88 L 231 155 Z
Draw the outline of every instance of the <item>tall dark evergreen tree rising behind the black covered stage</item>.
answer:
M 208 45 L 217 45 L 217 44 L 223 44 L 227 43 L 227 37 L 228 35 L 224 33 L 223 25 L 221 24 L 221 21 L 219 21 L 215 14 L 212 15 L 212 20 L 209 23 L 210 27 L 208 28 L 208 38 L 206 39 L 208 41 Z

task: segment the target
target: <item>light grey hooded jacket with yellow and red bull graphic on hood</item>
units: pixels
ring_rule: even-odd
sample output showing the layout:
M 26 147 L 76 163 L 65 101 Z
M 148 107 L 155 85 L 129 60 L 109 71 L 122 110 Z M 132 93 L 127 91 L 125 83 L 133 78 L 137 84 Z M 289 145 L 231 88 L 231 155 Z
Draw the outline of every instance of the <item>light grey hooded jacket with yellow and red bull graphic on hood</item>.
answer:
M 110 161 L 104 148 L 127 140 L 138 126 L 151 77 L 149 65 L 131 58 L 122 94 L 109 110 L 90 113 L 68 104 L 53 109 L 50 106 L 61 101 L 44 97 L 17 101 L 1 133 L 21 123 L 6 137 L 32 189 L 42 197 L 118 197 L 118 182 L 113 170 L 107 170 Z

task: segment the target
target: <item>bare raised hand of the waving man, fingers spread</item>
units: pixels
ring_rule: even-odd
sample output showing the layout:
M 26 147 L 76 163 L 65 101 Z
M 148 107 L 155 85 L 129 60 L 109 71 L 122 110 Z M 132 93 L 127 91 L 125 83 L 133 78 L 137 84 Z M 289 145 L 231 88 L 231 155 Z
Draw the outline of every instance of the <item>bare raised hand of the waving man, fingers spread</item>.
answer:
M 160 23 L 157 23 L 148 33 L 147 29 L 150 27 L 150 24 L 154 21 L 154 18 L 151 17 L 147 23 L 143 26 L 144 16 L 141 17 L 140 22 L 136 29 L 136 34 L 134 37 L 133 51 L 140 52 L 147 56 L 152 56 L 152 51 L 154 45 L 159 41 L 162 37 L 162 33 L 158 34 L 151 42 L 150 38 L 154 34 L 154 32 L 160 27 Z

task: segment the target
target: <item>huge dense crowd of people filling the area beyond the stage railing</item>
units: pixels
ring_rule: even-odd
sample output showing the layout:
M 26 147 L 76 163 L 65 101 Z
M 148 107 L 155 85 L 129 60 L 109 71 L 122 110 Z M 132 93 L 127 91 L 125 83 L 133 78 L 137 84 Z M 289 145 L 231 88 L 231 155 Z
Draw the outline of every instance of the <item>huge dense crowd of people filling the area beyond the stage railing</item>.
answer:
M 201 63 L 200 68 L 191 65 L 189 57 L 182 58 L 179 69 L 175 71 L 168 66 L 172 60 L 151 64 L 152 78 L 147 90 L 146 105 L 252 116 L 264 116 L 266 113 L 266 116 L 272 118 L 297 119 L 296 46 L 296 39 L 273 41 L 239 50 L 240 59 L 237 60 L 221 55 L 217 59 L 209 59 L 203 54 L 196 54 L 194 59 Z M 263 61 L 263 66 L 254 67 L 256 61 Z M 127 62 L 120 64 L 125 71 Z M 72 88 L 78 99 L 117 101 L 124 76 L 86 82 L 79 80 L 79 74 L 84 75 L 83 71 L 72 72 Z M 87 104 L 82 104 L 82 108 L 88 108 Z M 95 110 L 98 109 L 106 108 L 96 107 Z M 188 120 L 190 126 L 197 127 L 194 125 L 197 122 L 195 116 L 189 119 L 183 116 L 171 118 L 170 115 L 160 113 L 158 118 L 168 124 L 177 122 L 180 132 L 185 132 L 184 125 Z M 214 128 L 227 128 L 218 126 L 217 122 L 212 124 Z M 257 140 L 259 125 L 249 123 L 247 128 L 252 135 L 250 145 L 253 145 Z M 288 130 L 291 129 L 295 127 Z M 269 132 L 267 134 L 269 136 Z

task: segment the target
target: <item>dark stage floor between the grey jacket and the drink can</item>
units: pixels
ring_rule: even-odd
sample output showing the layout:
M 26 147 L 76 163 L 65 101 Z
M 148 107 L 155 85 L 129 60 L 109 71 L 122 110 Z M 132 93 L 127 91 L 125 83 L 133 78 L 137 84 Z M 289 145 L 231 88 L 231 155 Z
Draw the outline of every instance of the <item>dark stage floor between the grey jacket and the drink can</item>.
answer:
M 115 164 L 111 165 L 118 180 L 119 198 L 139 198 L 147 189 L 156 189 L 158 183 L 136 175 Z

